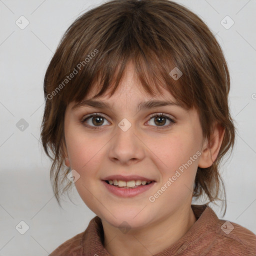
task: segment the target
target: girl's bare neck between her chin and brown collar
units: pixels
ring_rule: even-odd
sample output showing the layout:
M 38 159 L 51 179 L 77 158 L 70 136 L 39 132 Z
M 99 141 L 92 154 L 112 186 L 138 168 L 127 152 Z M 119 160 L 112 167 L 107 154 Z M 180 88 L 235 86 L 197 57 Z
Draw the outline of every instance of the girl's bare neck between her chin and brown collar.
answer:
M 189 205 L 146 227 L 131 228 L 127 233 L 102 221 L 104 247 L 113 256 L 156 254 L 178 241 L 194 224 L 196 218 Z

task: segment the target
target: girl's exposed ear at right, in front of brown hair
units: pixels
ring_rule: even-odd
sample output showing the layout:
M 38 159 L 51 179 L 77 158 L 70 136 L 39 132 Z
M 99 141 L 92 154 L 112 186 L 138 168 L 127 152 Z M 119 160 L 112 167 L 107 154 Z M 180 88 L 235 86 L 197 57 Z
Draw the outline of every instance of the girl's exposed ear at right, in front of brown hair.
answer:
M 222 125 L 219 123 L 214 124 L 213 132 L 210 135 L 210 141 L 206 139 L 202 146 L 198 167 L 207 168 L 215 161 L 222 144 L 224 132 L 225 128 Z

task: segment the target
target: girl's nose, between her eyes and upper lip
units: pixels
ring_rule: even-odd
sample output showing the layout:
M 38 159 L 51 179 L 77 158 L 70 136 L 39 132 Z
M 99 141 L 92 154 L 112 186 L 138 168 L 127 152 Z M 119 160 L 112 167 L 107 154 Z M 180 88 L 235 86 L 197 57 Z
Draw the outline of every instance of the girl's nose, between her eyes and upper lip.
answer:
M 116 127 L 116 133 L 111 139 L 109 145 L 108 156 L 111 161 L 129 165 L 139 162 L 144 158 L 145 145 L 141 141 L 139 133 L 135 130 L 135 125 L 131 125 L 128 129 L 127 123 Z M 124 128 L 123 128 L 124 127 Z

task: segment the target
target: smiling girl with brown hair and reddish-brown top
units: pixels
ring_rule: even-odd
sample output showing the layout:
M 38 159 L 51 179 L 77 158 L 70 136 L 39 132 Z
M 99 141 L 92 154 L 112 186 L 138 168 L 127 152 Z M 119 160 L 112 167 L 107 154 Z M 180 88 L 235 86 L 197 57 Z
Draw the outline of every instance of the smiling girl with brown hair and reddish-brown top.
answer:
M 191 204 L 219 199 L 229 85 L 213 34 L 175 2 L 78 17 L 45 74 L 41 139 L 58 202 L 74 183 L 96 216 L 51 255 L 255 255 L 251 231 Z

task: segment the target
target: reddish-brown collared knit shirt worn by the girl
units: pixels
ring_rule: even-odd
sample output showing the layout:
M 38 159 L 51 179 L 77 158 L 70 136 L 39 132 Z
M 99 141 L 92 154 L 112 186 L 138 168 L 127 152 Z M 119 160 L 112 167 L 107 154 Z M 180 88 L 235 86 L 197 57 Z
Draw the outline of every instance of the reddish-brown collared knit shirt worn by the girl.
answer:
M 256 255 L 256 235 L 236 223 L 218 219 L 206 204 L 192 204 L 196 217 L 191 228 L 174 244 L 154 256 Z M 98 216 L 85 229 L 62 243 L 51 256 L 111 256 L 103 247 L 103 228 Z

